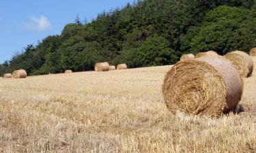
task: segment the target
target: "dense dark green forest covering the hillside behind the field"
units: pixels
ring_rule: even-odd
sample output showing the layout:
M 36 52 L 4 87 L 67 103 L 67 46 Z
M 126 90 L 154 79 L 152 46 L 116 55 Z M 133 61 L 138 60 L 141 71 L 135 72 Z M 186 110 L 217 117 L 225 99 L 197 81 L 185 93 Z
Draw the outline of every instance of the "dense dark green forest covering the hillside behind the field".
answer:
M 60 35 L 28 45 L 0 65 L 0 75 L 89 71 L 97 62 L 128 67 L 171 65 L 184 53 L 256 46 L 253 0 L 144 0 L 66 24 Z

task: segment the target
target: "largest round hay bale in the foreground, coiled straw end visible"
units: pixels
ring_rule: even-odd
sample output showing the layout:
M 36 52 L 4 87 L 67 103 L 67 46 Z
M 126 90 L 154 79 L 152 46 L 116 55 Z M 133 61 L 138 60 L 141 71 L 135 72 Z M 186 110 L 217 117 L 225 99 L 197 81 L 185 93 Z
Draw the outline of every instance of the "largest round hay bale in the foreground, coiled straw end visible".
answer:
M 176 63 L 165 75 L 162 93 L 173 113 L 217 117 L 236 109 L 242 78 L 224 58 L 202 57 Z

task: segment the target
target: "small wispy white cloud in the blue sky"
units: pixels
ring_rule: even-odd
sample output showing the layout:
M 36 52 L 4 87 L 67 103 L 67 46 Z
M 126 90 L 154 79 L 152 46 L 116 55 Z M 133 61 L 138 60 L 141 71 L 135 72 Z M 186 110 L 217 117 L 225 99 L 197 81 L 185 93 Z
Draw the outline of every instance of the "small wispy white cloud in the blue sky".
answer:
M 25 27 L 31 31 L 46 31 L 51 27 L 51 22 L 45 16 L 38 18 L 32 16 L 29 22 L 25 24 Z

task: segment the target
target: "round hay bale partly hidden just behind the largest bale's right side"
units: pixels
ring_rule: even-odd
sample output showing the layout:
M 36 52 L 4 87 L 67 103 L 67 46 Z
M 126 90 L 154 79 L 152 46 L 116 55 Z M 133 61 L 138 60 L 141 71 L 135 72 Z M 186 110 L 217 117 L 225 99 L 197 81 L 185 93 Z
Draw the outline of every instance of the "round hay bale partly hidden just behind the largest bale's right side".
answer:
M 253 73 L 253 60 L 245 52 L 236 50 L 225 54 L 224 57 L 236 67 L 243 77 L 248 77 Z

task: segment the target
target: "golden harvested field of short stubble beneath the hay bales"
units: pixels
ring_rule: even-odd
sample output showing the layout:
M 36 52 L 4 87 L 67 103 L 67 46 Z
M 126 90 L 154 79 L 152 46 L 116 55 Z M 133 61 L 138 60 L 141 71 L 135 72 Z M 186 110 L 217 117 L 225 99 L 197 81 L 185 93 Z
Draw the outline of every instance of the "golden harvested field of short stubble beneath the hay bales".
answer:
M 256 152 L 255 71 L 246 112 L 199 118 L 167 109 L 169 69 L 0 78 L 0 152 Z

